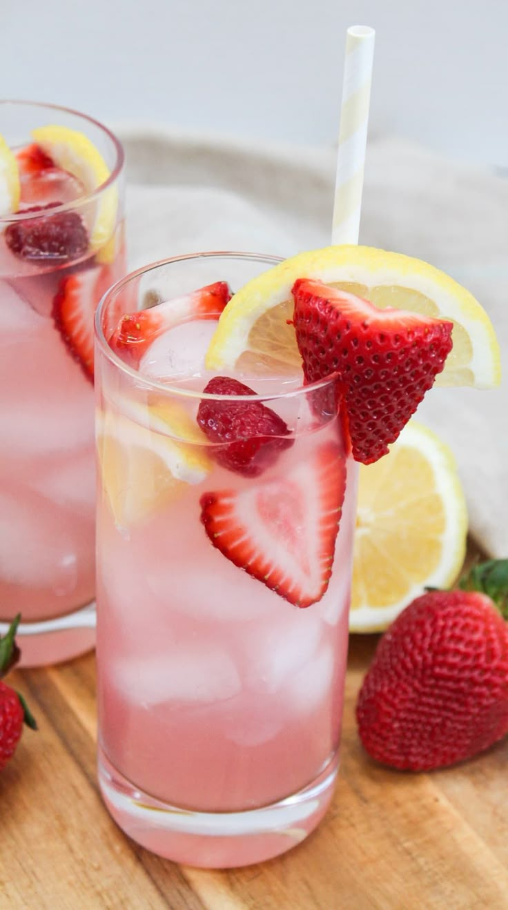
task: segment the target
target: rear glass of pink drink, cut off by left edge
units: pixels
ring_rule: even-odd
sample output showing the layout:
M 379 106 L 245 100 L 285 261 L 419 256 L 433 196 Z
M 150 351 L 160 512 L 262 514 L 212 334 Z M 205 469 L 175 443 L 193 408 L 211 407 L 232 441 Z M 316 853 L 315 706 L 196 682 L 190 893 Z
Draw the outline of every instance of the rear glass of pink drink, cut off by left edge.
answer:
M 76 176 L 79 153 L 66 169 L 34 140 L 52 125 L 93 145 L 109 174 L 97 190 Z M 0 622 L 20 612 L 25 626 L 94 599 L 93 314 L 125 272 L 123 153 L 96 121 L 28 102 L 0 103 L 0 135 L 20 187 L 0 212 Z M 40 628 L 20 637 L 25 665 L 94 643 Z

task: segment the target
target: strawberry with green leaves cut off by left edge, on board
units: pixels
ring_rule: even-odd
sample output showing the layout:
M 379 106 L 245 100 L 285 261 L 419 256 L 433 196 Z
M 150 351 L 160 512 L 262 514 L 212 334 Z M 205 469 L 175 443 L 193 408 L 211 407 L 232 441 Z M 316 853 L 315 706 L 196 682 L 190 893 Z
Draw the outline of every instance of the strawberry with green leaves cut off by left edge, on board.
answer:
M 5 636 L 3 638 L 0 636 L 0 677 L 4 676 L 19 660 L 20 652 L 15 644 L 15 632 L 19 620 L 18 615 Z M 5 768 L 6 763 L 15 753 L 24 723 L 32 730 L 36 730 L 36 721 L 28 711 L 23 696 L 5 685 L 5 682 L 0 682 L 0 771 Z

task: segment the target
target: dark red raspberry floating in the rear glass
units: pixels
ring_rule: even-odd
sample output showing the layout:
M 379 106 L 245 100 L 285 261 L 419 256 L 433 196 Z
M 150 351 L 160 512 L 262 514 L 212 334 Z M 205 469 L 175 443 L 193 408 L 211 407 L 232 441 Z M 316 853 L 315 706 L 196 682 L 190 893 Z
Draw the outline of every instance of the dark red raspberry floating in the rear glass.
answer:
M 15 256 L 29 262 L 49 262 L 62 265 L 84 256 L 88 248 L 86 227 L 76 212 L 48 212 L 57 206 L 32 206 L 24 214 L 41 213 L 41 217 L 28 218 L 5 228 L 5 243 Z

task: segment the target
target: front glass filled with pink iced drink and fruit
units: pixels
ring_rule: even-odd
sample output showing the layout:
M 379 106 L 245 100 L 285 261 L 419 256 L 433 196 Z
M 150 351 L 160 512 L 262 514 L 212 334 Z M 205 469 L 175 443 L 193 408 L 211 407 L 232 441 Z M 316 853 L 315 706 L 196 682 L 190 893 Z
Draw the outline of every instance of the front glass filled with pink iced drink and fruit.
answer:
M 337 389 L 265 372 L 236 377 L 248 399 L 203 393 L 218 312 L 181 297 L 277 261 L 168 260 L 110 290 L 96 320 L 100 786 L 138 843 L 208 867 L 299 843 L 338 766 L 356 467 Z M 107 340 L 127 290 L 177 299 L 121 359 Z M 273 436 L 244 423 L 245 449 L 225 449 L 201 429 L 218 408 L 265 409 Z

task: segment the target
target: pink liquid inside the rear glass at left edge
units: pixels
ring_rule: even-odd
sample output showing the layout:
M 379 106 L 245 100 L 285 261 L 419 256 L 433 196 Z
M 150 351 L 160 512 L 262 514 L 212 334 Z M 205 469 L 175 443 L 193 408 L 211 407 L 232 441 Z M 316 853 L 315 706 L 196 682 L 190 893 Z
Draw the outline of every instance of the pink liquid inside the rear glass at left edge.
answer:
M 26 205 L 83 195 L 57 168 L 23 187 Z M 69 276 L 106 290 L 122 271 L 122 256 L 108 266 L 90 254 L 65 267 L 30 262 L 0 235 L 1 621 L 17 612 L 23 622 L 49 619 L 94 598 L 93 383 L 66 348 L 52 309 Z M 57 656 L 58 646 L 23 642 L 25 662 Z

